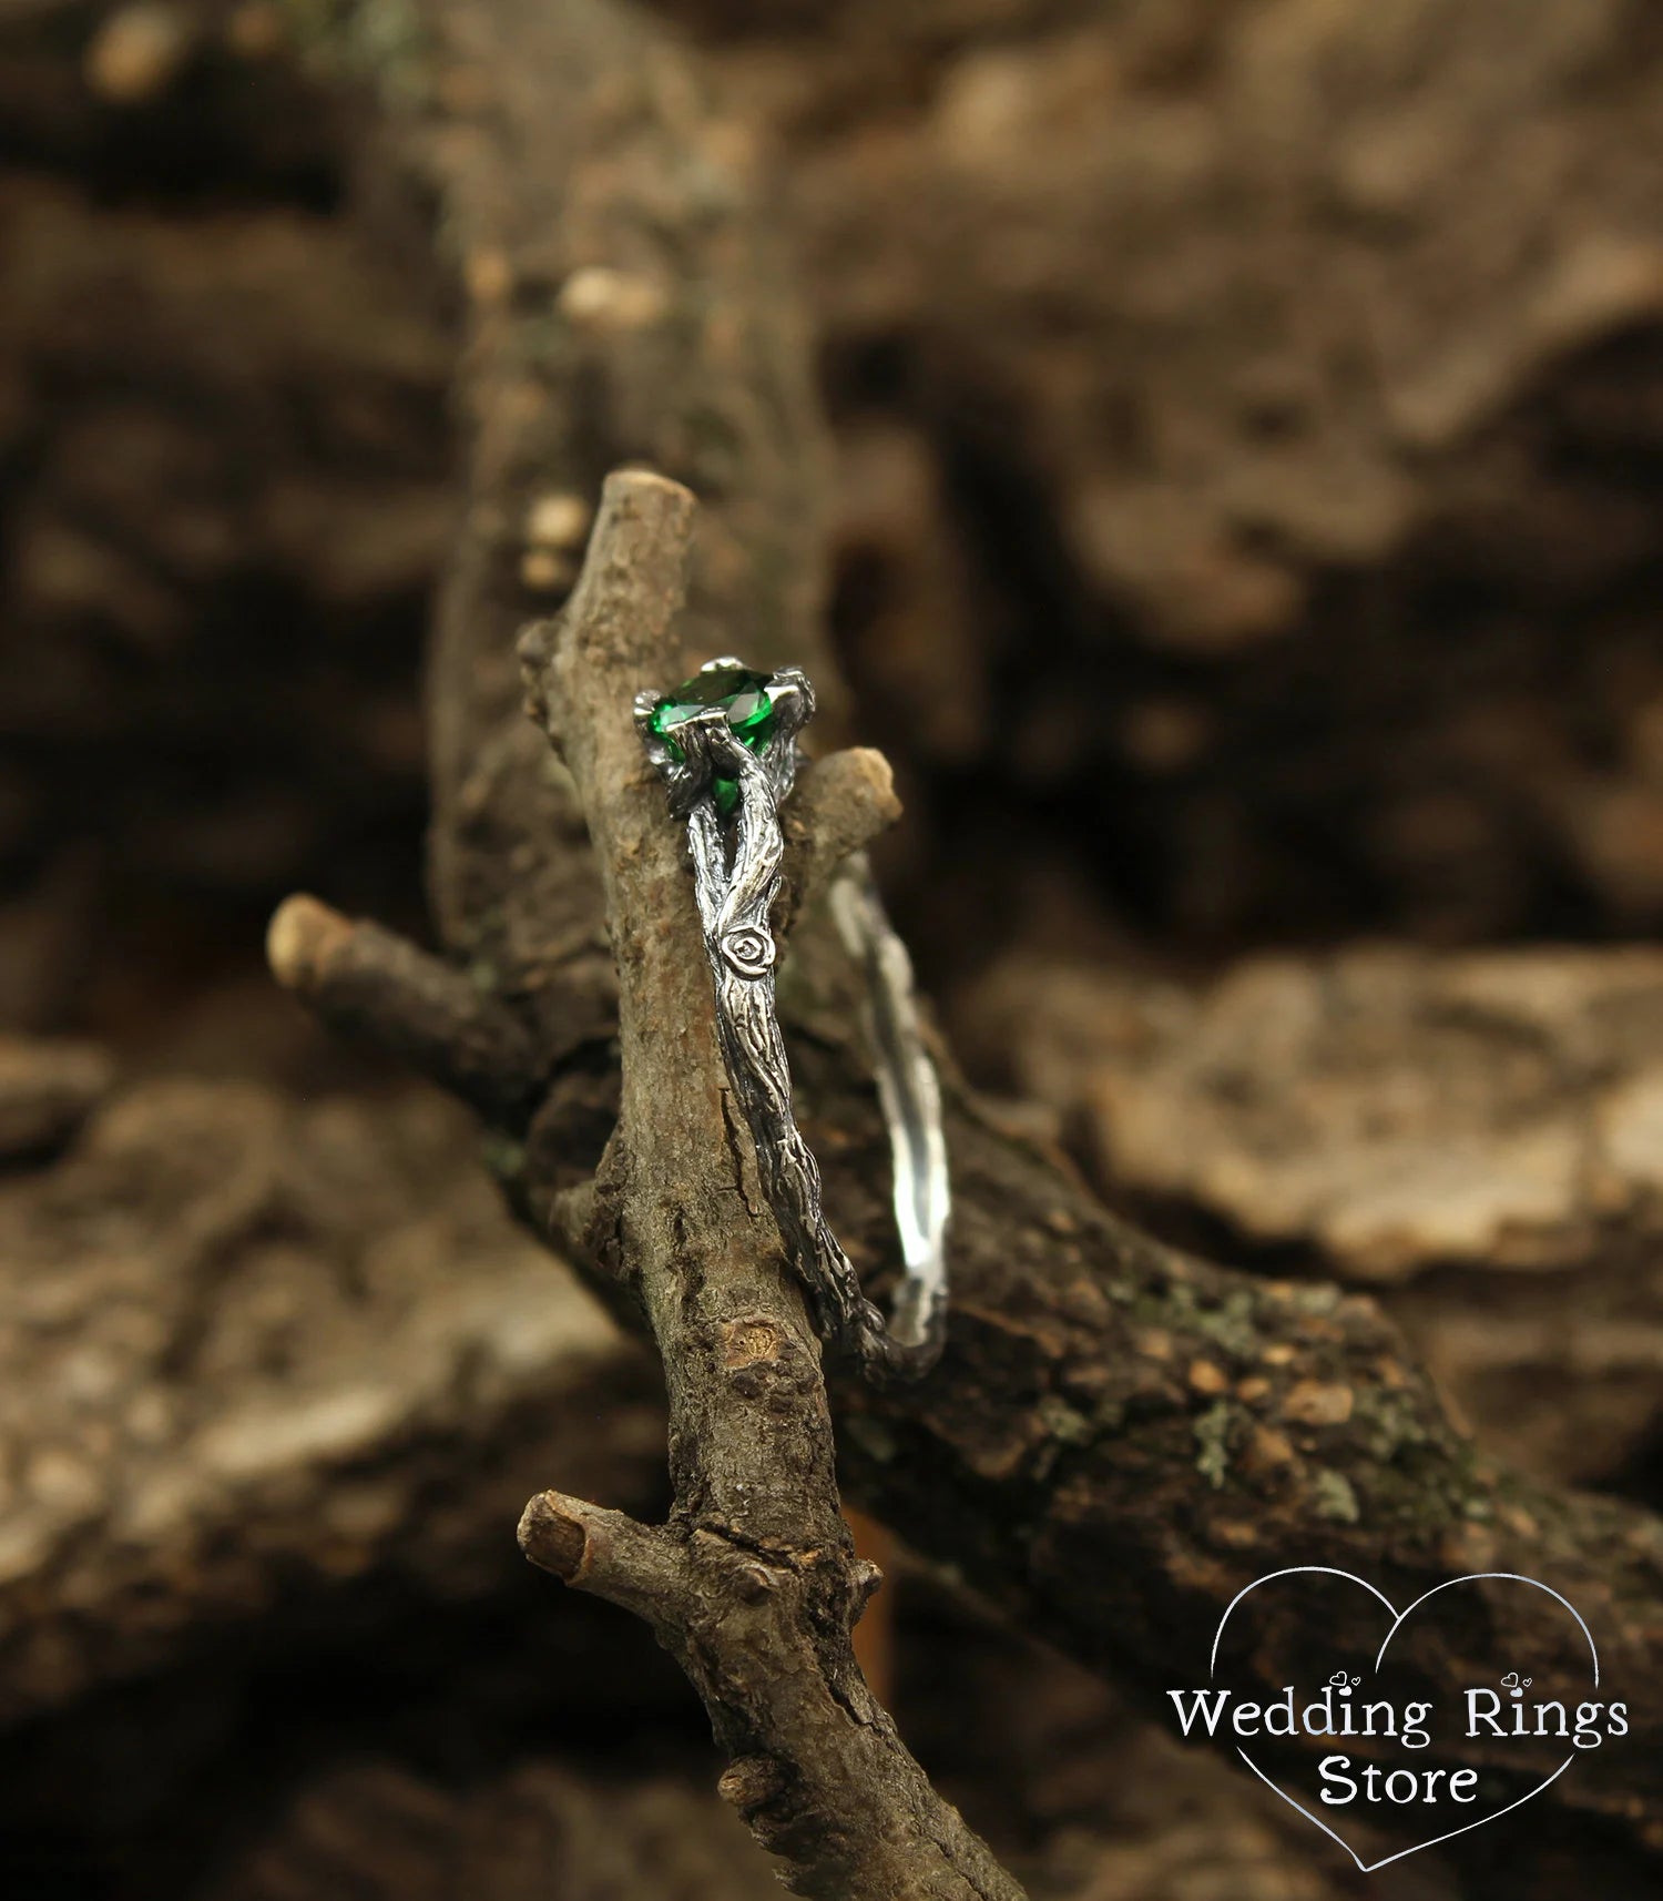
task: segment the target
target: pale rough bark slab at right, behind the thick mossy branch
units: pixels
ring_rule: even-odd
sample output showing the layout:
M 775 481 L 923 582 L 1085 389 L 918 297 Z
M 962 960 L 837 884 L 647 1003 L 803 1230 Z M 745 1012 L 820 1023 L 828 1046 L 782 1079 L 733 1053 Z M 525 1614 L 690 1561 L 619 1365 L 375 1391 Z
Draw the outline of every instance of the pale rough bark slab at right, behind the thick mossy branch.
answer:
M 1123 1213 L 1376 1291 L 1484 1447 L 1625 1488 L 1659 1428 L 1659 998 L 1650 947 L 1281 952 L 1194 987 L 1028 956 L 956 1027 Z

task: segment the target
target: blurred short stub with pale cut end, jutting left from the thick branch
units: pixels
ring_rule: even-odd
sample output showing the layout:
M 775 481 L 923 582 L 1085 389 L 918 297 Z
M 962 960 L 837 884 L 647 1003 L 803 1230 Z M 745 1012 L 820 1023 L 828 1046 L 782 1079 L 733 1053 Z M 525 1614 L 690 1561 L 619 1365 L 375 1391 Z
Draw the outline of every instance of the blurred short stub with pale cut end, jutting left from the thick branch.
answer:
M 298 893 L 272 916 L 266 960 L 331 1028 L 397 1055 L 477 1108 L 515 1108 L 536 1087 L 536 1046 L 519 1017 L 395 931 Z

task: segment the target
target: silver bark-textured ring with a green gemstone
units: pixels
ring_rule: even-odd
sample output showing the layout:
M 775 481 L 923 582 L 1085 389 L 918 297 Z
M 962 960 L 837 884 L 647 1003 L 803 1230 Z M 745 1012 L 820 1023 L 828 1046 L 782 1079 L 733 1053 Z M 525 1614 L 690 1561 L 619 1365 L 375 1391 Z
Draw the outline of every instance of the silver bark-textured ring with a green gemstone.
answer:
M 865 1030 L 895 1173 L 905 1277 L 893 1317 L 861 1293 L 821 1213 L 819 1167 L 791 1112 L 791 1068 L 774 1006 L 774 930 L 785 842 L 779 808 L 796 783 L 796 736 L 813 717 L 800 667 L 755 673 L 711 660 L 673 694 L 635 696 L 635 730 L 686 823 L 694 893 L 717 990 L 728 1082 L 819 1336 L 869 1378 L 916 1378 L 946 1329 L 946 1139 L 941 1082 L 924 1047 L 912 962 L 889 926 L 865 852 L 844 861 L 829 903 L 865 979 Z

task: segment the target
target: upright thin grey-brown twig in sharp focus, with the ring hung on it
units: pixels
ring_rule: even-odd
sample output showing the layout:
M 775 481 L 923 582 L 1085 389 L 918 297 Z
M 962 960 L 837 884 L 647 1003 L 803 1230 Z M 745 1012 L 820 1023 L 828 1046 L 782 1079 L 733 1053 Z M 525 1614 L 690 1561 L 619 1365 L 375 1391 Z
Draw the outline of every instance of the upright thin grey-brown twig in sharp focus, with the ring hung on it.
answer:
M 564 1213 L 648 1315 L 675 1481 L 665 1527 L 544 1492 L 521 1542 L 652 1623 L 730 1755 L 722 1793 L 787 1857 L 798 1893 L 1017 1901 L 853 1660 L 878 1572 L 838 1509 L 819 1344 L 774 1220 L 747 1194 L 755 1162 L 724 1106 L 680 836 L 631 720 L 633 694 L 673 679 L 692 513 L 671 481 L 610 477 L 566 612 L 521 648 L 530 709 L 587 814 L 620 981 L 621 1114 L 597 1190 Z M 870 778 L 821 770 L 827 787 Z M 861 831 L 813 810 L 832 836 Z

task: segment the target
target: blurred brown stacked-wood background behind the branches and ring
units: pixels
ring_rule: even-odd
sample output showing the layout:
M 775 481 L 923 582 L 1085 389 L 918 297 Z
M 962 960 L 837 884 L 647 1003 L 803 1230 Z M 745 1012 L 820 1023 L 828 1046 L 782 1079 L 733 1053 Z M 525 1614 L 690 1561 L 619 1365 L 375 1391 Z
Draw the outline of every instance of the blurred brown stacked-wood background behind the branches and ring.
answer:
M 555 1477 L 659 1507 L 654 1369 L 515 1226 L 513 1158 L 262 960 L 302 888 L 430 935 L 456 365 L 547 287 L 435 243 L 378 141 L 466 173 L 490 57 L 431 82 L 412 46 L 494 11 L 0 11 L 29 1901 L 770 1891 L 673 1667 L 513 1546 Z M 1154 1234 L 1378 1296 L 1486 1454 L 1663 1504 L 1655 10 L 597 13 L 686 44 L 768 182 L 815 433 L 798 468 L 688 405 L 730 479 L 696 606 L 726 536 L 781 614 L 823 584 L 831 719 L 895 764 L 880 871 L 971 1082 Z M 561 603 L 591 502 L 479 530 L 509 622 Z M 1500 1895 L 1532 1848 L 1365 1882 L 939 1578 L 895 1599 L 903 1732 L 1036 1895 Z M 1653 1884 L 1629 1844 L 1602 1891 Z

